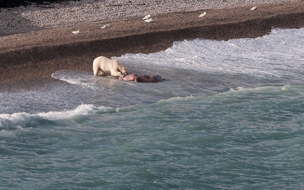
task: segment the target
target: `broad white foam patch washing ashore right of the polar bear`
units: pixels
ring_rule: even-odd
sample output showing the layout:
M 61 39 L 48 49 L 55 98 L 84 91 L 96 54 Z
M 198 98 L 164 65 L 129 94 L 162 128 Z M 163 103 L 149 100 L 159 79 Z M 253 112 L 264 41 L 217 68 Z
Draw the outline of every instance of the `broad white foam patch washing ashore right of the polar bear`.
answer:
M 304 28 L 272 29 L 256 39 L 185 40 L 153 54 L 125 54 L 121 62 L 178 67 L 206 73 L 240 73 L 259 78 L 303 79 Z

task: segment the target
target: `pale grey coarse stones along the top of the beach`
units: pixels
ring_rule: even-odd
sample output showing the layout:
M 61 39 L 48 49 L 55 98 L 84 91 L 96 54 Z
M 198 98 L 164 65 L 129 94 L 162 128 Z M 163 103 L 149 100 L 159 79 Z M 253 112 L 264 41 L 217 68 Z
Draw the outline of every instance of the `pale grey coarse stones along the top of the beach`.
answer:
M 111 23 L 158 14 L 301 0 L 81 0 L 0 9 L 0 36 L 85 23 Z

